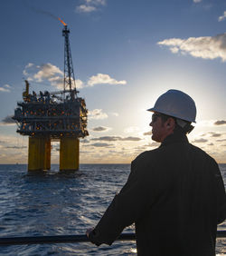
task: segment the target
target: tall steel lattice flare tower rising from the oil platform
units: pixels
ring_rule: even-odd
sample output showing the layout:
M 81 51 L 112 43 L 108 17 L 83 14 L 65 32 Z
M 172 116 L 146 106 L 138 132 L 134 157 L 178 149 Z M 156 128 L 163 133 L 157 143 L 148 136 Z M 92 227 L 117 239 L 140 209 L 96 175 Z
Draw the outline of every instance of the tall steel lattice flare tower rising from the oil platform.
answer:
M 67 25 L 64 25 L 62 30 L 62 36 L 64 36 L 64 81 L 63 81 L 63 90 L 67 89 L 71 92 L 71 97 L 75 94 L 77 96 L 76 84 L 74 79 L 74 71 L 71 57 L 71 48 L 69 42 L 70 30 Z

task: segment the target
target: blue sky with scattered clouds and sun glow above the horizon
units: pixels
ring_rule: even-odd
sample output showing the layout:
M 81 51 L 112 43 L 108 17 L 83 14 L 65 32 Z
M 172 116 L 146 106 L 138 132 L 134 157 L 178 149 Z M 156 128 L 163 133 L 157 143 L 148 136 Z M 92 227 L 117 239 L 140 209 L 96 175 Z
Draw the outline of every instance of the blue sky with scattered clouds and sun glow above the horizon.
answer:
M 226 162 L 225 0 L 2 0 L 0 8 L 0 163 L 26 163 L 28 138 L 10 118 L 31 90 L 62 89 L 70 28 L 79 96 L 89 109 L 81 163 L 129 163 L 155 149 L 151 114 L 169 89 L 197 107 L 190 143 Z M 59 143 L 52 142 L 52 163 Z

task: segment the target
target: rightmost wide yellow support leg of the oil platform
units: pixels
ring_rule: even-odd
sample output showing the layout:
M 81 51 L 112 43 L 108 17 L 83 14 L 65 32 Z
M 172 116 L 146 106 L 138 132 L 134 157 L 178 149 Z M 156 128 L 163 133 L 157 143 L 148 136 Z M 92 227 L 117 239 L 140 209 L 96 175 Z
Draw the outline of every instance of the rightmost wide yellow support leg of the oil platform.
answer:
M 75 171 L 80 165 L 80 141 L 77 138 L 61 138 L 60 170 Z

